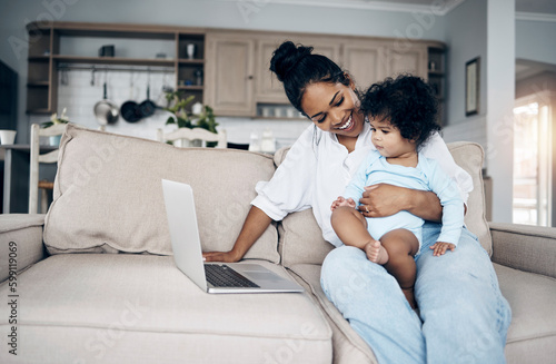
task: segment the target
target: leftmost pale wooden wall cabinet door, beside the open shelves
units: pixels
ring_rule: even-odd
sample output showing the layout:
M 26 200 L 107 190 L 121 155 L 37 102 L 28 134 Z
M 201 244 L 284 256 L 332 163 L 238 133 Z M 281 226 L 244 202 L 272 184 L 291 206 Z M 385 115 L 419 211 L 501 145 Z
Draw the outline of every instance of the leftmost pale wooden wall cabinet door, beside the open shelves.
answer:
M 255 40 L 229 33 L 207 35 L 206 102 L 217 115 L 255 115 Z

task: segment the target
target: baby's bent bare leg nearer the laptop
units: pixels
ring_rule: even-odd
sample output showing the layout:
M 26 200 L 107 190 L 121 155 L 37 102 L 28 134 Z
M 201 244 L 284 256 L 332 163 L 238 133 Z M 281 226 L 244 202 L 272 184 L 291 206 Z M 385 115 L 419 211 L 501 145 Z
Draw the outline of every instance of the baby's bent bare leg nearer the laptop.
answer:
M 368 243 L 375 242 L 367 232 L 367 219 L 353 207 L 337 207 L 332 211 L 330 223 L 340 240 L 346 245 L 364 249 Z

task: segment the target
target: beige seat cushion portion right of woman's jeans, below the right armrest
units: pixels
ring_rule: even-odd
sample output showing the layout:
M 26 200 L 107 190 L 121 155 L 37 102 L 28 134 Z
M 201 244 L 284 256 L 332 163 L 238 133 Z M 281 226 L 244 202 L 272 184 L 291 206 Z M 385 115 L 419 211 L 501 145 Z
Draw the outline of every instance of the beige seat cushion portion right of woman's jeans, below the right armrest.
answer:
M 556 357 L 556 279 L 494 265 L 512 307 L 508 363 L 550 363 Z

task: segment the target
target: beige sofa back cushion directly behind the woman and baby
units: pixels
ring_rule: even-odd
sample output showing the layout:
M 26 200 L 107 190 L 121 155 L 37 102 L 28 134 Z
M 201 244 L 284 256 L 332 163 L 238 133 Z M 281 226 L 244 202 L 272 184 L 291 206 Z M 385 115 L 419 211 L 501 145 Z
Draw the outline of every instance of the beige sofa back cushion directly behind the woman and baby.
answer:
M 481 177 L 483 149 L 474 142 L 451 142 L 448 148 L 455 161 L 473 178 L 474 189 L 467 201 L 468 209 L 465 223 L 469 230 L 476 234 L 483 247 L 492 254 L 493 243 L 485 218 L 485 194 Z M 279 166 L 286 158 L 288 148 L 282 148 L 275 155 L 275 164 Z M 322 238 L 320 228 L 312 216 L 312 210 L 288 215 L 279 226 L 279 250 L 284 266 L 295 264 L 321 264 L 326 255 L 334 248 Z

